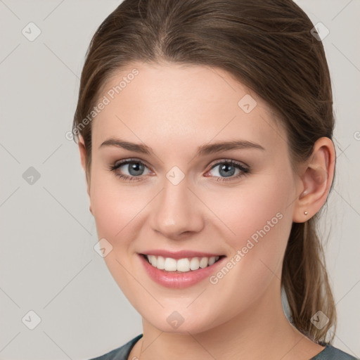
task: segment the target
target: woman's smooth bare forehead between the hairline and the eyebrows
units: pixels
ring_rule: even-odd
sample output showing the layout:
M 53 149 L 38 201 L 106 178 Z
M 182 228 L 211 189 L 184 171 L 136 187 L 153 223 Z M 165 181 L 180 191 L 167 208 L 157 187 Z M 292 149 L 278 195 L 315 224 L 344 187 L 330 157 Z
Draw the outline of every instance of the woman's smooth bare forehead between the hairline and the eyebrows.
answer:
M 134 63 L 113 75 L 92 124 L 94 147 L 114 136 L 193 148 L 243 139 L 286 147 L 285 131 L 269 105 L 228 72 L 202 65 Z

